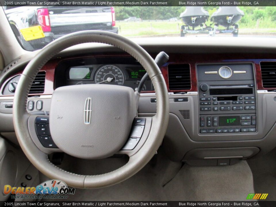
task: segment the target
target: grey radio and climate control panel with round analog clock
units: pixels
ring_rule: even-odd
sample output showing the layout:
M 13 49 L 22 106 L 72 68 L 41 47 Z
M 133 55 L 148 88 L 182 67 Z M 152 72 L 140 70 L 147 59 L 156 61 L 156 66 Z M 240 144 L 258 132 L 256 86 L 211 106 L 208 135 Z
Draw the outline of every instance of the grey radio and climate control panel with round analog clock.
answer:
M 199 64 L 199 134 L 256 133 L 252 64 Z

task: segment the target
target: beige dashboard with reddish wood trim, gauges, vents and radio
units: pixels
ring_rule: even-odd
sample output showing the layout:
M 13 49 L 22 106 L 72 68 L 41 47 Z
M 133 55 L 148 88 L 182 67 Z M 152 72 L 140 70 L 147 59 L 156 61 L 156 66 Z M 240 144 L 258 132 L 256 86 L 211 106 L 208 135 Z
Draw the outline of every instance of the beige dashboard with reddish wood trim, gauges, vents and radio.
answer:
M 160 70 L 170 104 L 162 147 L 171 160 L 218 165 L 218 160 L 224 159 L 226 164 L 233 164 L 235 160 L 258 156 L 276 147 L 274 48 L 225 44 L 209 45 L 206 49 L 179 43 L 142 46 L 153 58 L 162 50 L 169 55 Z M 0 77 L 0 132 L 14 142 L 12 100 L 28 61 L 22 57 L 16 64 L 9 64 L 10 68 L 5 68 L 7 72 Z M 135 90 L 144 74 L 145 70 L 134 58 L 113 47 L 64 52 L 39 72 L 31 87 L 27 110 L 38 116 L 47 115 L 51 110 L 51 94 L 58 87 L 111 84 Z M 154 116 L 156 104 L 154 88 L 147 80 L 139 99 L 138 115 Z

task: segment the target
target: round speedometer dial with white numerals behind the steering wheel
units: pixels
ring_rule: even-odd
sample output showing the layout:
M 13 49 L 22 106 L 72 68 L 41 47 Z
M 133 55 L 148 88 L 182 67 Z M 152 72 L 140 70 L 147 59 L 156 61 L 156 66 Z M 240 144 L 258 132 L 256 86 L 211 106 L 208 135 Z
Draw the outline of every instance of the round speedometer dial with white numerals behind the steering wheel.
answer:
M 97 84 L 124 85 L 124 74 L 117 66 L 104 65 L 98 69 L 95 80 Z

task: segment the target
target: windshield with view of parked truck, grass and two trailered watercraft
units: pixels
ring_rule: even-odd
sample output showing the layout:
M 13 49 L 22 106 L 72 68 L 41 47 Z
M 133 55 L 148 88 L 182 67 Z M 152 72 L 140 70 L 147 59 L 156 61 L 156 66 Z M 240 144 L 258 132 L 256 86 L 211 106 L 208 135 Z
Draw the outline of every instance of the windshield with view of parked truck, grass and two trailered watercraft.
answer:
M 3 6 L 14 35 L 26 50 L 41 49 L 59 37 L 81 30 L 103 30 L 129 38 L 276 34 L 276 7 L 273 6 L 111 7 L 74 6 L 70 2 L 64 6 L 59 1 L 41 3 L 44 5 Z

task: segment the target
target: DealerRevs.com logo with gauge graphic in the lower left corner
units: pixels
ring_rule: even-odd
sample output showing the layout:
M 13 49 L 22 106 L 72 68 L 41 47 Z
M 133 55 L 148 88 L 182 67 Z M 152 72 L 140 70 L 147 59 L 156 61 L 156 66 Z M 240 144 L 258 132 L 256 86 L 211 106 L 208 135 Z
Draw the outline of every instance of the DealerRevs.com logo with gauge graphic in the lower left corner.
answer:
M 4 194 L 11 193 L 11 198 L 22 199 L 67 199 L 67 195 L 75 193 L 75 188 L 68 186 L 60 180 L 48 180 L 37 187 L 11 187 L 4 186 Z

